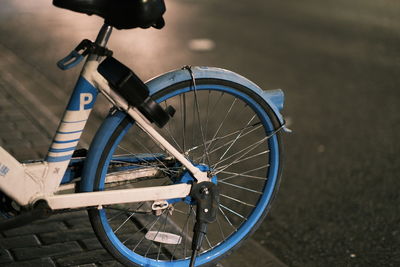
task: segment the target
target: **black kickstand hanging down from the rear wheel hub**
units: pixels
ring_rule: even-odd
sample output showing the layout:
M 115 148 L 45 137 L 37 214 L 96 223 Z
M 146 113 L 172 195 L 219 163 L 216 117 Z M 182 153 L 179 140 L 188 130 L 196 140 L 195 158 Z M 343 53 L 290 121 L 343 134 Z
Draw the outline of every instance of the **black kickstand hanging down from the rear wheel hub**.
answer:
M 196 201 L 196 223 L 193 228 L 192 257 L 190 267 L 194 266 L 197 253 L 207 234 L 207 225 L 217 218 L 219 193 L 217 185 L 212 182 L 201 182 L 193 185 L 190 196 Z

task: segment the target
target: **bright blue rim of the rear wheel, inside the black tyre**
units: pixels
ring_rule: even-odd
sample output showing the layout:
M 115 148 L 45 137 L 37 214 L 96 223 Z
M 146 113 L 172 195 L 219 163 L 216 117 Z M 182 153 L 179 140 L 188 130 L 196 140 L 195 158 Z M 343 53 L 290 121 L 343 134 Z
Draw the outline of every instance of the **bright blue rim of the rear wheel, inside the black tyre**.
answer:
M 241 100 L 245 101 L 249 106 L 251 106 L 253 108 L 253 110 L 258 114 L 260 120 L 262 121 L 262 124 L 269 131 L 269 133 L 267 133 L 267 134 L 271 134 L 272 132 L 274 132 L 274 130 L 275 130 L 274 125 L 273 125 L 271 119 L 268 117 L 268 114 L 254 99 L 252 99 L 247 94 L 245 94 L 237 89 L 234 89 L 232 87 L 225 86 L 225 85 L 207 85 L 207 84 L 197 85 L 196 89 L 199 91 L 211 89 L 211 90 L 226 92 L 226 93 L 230 93 L 231 95 L 233 95 L 235 97 L 240 98 Z M 182 94 L 182 93 L 189 92 L 191 90 L 192 90 L 191 87 L 184 87 L 184 88 L 181 88 L 178 90 L 173 90 L 172 92 L 169 92 L 166 95 L 157 99 L 157 102 L 162 102 L 171 97 L 174 97 L 174 96 Z M 155 93 L 157 93 L 157 92 L 155 92 Z M 110 149 L 110 153 L 107 156 L 106 162 L 110 161 L 119 142 L 121 141 L 121 139 L 127 132 L 127 129 L 131 125 L 132 124 L 128 125 L 126 127 L 126 129 L 121 133 L 121 135 L 117 138 L 113 147 Z M 263 195 L 259 199 L 257 206 L 253 209 L 253 212 L 247 218 L 247 221 L 244 222 L 240 226 L 238 231 L 233 233 L 224 242 L 215 246 L 212 250 L 200 254 L 196 259 L 196 265 L 202 265 L 202 264 L 208 263 L 210 261 L 213 261 L 214 259 L 216 259 L 219 256 L 228 252 L 232 247 L 234 247 L 243 238 L 245 238 L 249 232 L 251 232 L 253 227 L 257 224 L 257 222 L 260 220 L 260 218 L 266 211 L 266 208 L 268 207 L 270 200 L 272 199 L 274 189 L 277 184 L 277 180 L 279 178 L 279 167 L 280 167 L 279 166 L 279 164 L 280 164 L 280 154 L 279 153 L 280 152 L 279 152 L 278 138 L 276 135 L 272 135 L 268 139 L 268 146 L 270 147 L 270 156 L 269 156 L 270 167 L 268 169 L 268 175 L 267 175 L 268 181 L 265 185 L 265 188 L 263 190 Z M 99 188 L 100 190 L 102 190 L 103 186 L 104 186 L 104 180 L 105 180 L 107 168 L 108 168 L 108 166 L 106 166 L 106 165 L 103 166 L 103 170 L 102 170 L 102 174 L 101 174 L 100 188 Z M 154 259 L 143 257 L 139 254 L 132 252 L 124 244 L 122 244 L 121 241 L 118 239 L 118 237 L 113 233 L 113 230 L 107 221 L 107 215 L 106 215 L 105 210 L 99 210 L 99 216 L 100 216 L 100 220 L 102 222 L 103 228 L 105 230 L 105 233 L 109 238 L 109 241 L 123 256 L 125 256 L 130 261 L 135 262 L 136 264 L 139 264 L 142 266 L 182 266 L 182 267 L 188 266 L 189 259 L 174 260 L 174 261 L 157 261 Z

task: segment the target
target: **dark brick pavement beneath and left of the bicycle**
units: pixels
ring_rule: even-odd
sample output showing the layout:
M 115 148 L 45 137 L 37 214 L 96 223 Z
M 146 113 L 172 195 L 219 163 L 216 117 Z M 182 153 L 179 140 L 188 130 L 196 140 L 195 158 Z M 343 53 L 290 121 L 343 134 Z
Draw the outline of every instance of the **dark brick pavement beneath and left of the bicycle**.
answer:
M 35 70 L 13 72 L 23 70 L 24 63 L 7 49 L 0 50 L 0 145 L 20 161 L 41 159 L 57 126 L 57 116 L 65 106 L 65 96 Z M 8 64 L 7 68 L 1 64 Z M 46 89 L 51 86 L 53 91 Z M 42 104 L 35 106 L 37 103 Z M 89 133 L 95 131 L 100 117 L 101 111 L 96 111 L 88 125 Z M 85 137 L 81 146 L 87 142 Z M 102 248 L 86 211 L 77 211 L 1 233 L 0 266 L 122 265 Z M 218 266 L 285 265 L 250 239 Z

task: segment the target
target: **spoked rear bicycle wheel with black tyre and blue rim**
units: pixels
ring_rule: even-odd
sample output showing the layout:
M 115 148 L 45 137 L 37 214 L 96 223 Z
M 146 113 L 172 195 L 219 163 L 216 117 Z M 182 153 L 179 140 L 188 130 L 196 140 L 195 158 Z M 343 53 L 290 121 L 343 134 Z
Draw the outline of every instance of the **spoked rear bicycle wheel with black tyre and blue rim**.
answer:
M 259 226 L 278 188 L 281 169 L 279 123 L 270 107 L 243 85 L 219 79 L 173 84 L 153 98 L 173 106 L 162 135 L 218 185 L 217 219 L 196 266 L 217 261 Z M 122 112 L 102 148 L 93 190 L 191 183 L 193 177 L 166 155 Z M 146 173 L 129 182 L 108 182 L 107 173 Z M 103 246 L 127 266 L 188 266 L 195 203 L 190 197 L 161 202 L 109 205 L 89 211 Z M 162 206 L 162 205 L 161 205 Z

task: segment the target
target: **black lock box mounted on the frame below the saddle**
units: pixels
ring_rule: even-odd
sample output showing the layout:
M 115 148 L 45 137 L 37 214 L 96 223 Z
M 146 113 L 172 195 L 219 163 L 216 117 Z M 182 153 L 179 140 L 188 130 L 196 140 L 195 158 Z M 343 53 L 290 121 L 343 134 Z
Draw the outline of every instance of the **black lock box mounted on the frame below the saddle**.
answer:
M 129 105 L 136 107 L 150 121 L 162 128 L 175 114 L 168 106 L 163 109 L 154 101 L 146 84 L 127 66 L 113 57 L 107 57 L 98 67 L 98 72 L 108 81 Z

